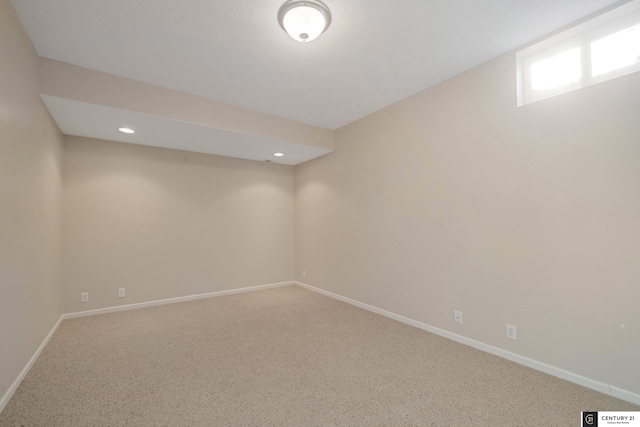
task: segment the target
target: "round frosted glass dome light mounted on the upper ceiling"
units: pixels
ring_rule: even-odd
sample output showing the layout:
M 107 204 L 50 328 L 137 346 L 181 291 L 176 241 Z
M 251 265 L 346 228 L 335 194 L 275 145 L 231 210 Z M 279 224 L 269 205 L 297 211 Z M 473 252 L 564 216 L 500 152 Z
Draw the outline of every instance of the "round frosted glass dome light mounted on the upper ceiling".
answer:
M 294 40 L 310 42 L 331 24 L 331 11 L 319 0 L 288 0 L 278 10 L 278 22 Z

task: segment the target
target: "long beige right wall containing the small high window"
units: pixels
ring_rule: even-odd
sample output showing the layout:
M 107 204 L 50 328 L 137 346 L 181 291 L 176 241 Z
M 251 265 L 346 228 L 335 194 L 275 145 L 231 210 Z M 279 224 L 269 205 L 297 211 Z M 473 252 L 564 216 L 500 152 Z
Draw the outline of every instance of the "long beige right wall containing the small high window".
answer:
M 487 62 L 297 166 L 297 280 L 639 393 L 640 73 L 522 108 L 515 75 Z

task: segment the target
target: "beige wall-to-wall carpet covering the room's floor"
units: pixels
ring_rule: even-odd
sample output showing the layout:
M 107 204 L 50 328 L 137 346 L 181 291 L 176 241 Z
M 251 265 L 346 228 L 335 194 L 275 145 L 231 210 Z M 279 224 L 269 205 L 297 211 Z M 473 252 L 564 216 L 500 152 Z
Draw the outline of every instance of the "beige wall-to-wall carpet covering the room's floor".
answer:
M 1 426 L 578 426 L 640 407 L 290 286 L 66 320 Z

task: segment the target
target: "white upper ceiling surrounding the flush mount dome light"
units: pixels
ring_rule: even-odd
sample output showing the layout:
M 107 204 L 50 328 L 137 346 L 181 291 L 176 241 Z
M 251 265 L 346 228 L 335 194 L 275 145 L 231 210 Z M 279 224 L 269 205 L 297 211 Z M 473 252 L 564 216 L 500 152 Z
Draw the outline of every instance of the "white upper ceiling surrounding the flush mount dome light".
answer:
M 329 130 L 624 3 L 324 0 L 331 26 L 299 43 L 283 2 L 12 0 L 41 57 Z

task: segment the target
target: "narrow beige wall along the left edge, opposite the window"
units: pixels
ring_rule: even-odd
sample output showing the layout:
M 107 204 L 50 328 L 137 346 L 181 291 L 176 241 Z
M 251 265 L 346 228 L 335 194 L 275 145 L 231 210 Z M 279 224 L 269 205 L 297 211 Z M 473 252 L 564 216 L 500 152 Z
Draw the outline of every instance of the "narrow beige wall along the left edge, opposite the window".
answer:
M 0 0 L 0 399 L 62 314 L 62 134 L 38 97 L 38 56 Z

